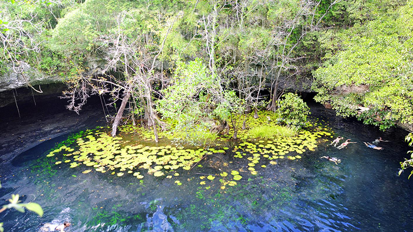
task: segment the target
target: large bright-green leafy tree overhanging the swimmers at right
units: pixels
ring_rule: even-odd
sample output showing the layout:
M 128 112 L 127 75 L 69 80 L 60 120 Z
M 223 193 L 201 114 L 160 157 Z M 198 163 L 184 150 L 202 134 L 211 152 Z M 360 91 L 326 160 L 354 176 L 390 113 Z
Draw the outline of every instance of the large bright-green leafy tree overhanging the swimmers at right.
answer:
M 371 21 L 325 33 L 322 41 L 329 52 L 313 73 L 315 99 L 330 103 L 339 115 L 357 116 L 382 130 L 395 123 L 411 130 L 413 69 L 408 51 L 412 49 L 413 1 L 396 5 L 396 12 L 382 5 Z M 340 48 L 331 40 L 341 41 Z

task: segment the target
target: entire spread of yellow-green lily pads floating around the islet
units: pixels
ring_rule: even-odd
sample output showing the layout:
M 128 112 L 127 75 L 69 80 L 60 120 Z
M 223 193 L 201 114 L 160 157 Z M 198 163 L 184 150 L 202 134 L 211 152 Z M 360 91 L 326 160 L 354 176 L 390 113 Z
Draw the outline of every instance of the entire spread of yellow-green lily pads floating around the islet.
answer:
M 259 112 L 259 119 L 252 118 L 252 114 L 250 116 L 251 118 L 247 116 L 246 119 L 249 126 L 258 125 L 258 123 L 276 125 L 276 117 L 273 113 Z M 234 120 L 244 120 L 242 117 L 234 117 Z M 81 137 L 76 138 L 76 144 L 56 147 L 47 156 L 55 159 L 53 161 L 55 165 L 68 163 L 70 168 L 86 167 L 86 170 L 82 172 L 84 174 L 95 170 L 101 173 L 108 172 L 117 177 L 132 174 L 135 178 L 141 179 L 145 174 L 150 174 L 154 177 L 166 176 L 169 179 L 178 177 L 180 169 L 190 170 L 195 166 L 202 168 L 204 163 L 199 163 L 199 161 L 206 155 L 216 156 L 229 150 L 232 151 L 230 154 L 233 154 L 233 157 L 247 161 L 245 167 L 248 169 L 247 172 L 257 175 L 257 167 L 266 168 L 268 165 L 277 165 L 276 160 L 301 159 L 304 152 L 314 151 L 319 142 L 326 140 L 325 137 L 332 137 L 331 129 L 317 118 L 311 118 L 307 123 L 307 128 L 293 137 L 260 140 L 249 136 L 248 128 L 246 128 L 238 130 L 241 140 L 231 140 L 229 135 L 220 135 L 217 140 L 222 142 L 216 141 L 213 145 L 210 144 L 213 147 L 194 149 L 170 145 L 171 134 L 168 132 L 161 132 L 161 138 L 164 137 L 159 144 L 164 144 L 163 146 L 151 147 L 145 144 L 152 144 L 154 139 L 152 130 L 127 124 L 123 125 L 120 131 L 118 137 L 111 137 L 103 130 L 87 130 Z M 62 156 L 57 156 L 58 154 Z M 228 163 L 223 163 L 223 166 L 228 167 Z M 226 186 L 235 186 L 242 179 L 240 171 L 246 170 L 240 168 L 226 171 L 229 173 L 221 171 L 201 176 L 199 185 L 205 185 L 205 189 L 209 189 L 219 180 L 221 189 L 225 189 Z M 181 181 L 176 180 L 175 184 L 182 185 Z

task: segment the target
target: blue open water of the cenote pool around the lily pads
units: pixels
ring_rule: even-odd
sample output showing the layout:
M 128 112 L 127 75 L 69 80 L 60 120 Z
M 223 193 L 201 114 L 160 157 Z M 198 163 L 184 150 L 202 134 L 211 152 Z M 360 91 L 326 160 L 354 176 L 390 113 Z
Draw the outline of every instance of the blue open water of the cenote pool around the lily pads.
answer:
M 180 147 L 170 140 L 156 144 L 137 134 L 119 133 L 115 141 L 120 145 L 115 147 L 125 147 L 123 141 L 128 141 L 132 145 L 126 151 L 134 149 L 135 153 L 126 154 L 134 157 L 149 157 L 154 151 L 164 153 L 157 153 L 158 158 L 177 154 L 169 159 L 178 160 L 177 166 L 188 160 L 178 158 L 180 153 L 185 156 L 195 151 L 203 158 L 179 167 L 171 167 L 172 162 L 169 167 L 156 168 L 154 163 L 151 175 L 151 168 L 125 166 L 112 172 L 109 165 L 102 173 L 105 168 L 93 167 L 96 163 L 77 161 L 78 166 L 73 165 L 76 153 L 63 154 L 76 152 L 79 144 L 88 144 L 87 136 L 100 140 L 108 135 L 109 129 L 102 123 L 98 128 L 86 126 L 41 142 L 2 163 L 2 200 L 18 193 L 23 202 L 35 201 L 45 213 L 40 218 L 34 213 L 8 210 L 0 221 L 7 231 L 15 232 L 37 231 L 43 223 L 64 220 L 72 223 L 66 229 L 71 232 L 411 231 L 409 199 L 413 185 L 408 173 L 397 176 L 399 161 L 408 150 L 402 142 L 403 133 L 398 129 L 382 133 L 358 121 L 337 118 L 334 111 L 316 104 L 311 111 L 312 128 L 323 128 L 320 131 L 325 133 L 317 137 L 316 148 L 301 154 L 290 151 L 284 159 L 280 154 L 278 159 L 266 158 L 265 149 L 274 149 L 267 145 L 277 144 L 267 140 Z M 358 143 L 342 150 L 328 146 L 337 136 Z M 391 140 L 382 143 L 385 150 L 363 145 L 363 141 L 378 136 Z M 246 152 L 250 149 L 242 145 L 252 151 Z M 59 147 L 63 151 L 56 151 Z M 295 158 L 297 155 L 300 159 Z M 319 158 L 326 155 L 342 162 L 335 165 Z M 261 159 L 257 162 L 254 157 Z M 255 164 L 256 173 L 248 169 L 249 163 Z M 188 165 L 190 169 L 185 170 Z M 158 171 L 162 175 L 155 174 Z

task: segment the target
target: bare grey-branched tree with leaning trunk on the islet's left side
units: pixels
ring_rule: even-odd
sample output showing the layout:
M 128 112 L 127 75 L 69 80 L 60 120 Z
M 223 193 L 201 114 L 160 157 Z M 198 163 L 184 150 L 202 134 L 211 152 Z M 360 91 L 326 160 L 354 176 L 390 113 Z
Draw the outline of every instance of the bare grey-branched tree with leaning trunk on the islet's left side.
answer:
M 117 127 L 121 123 L 123 111 L 126 109 L 128 102 L 135 108 L 137 105 L 144 111 L 143 119 L 148 127 L 154 130 L 155 141 L 158 141 L 157 126 L 163 127 L 163 123 L 157 118 L 157 112 L 154 109 L 153 95 L 156 91 L 153 89 L 154 83 L 161 80 L 162 73 L 156 69 L 157 57 L 162 52 L 166 37 L 176 19 L 166 21 L 166 35 L 160 45 L 154 43 L 149 34 L 127 34 L 125 30 L 125 21 L 133 20 L 133 15 L 128 12 L 121 12 L 116 17 L 116 28 L 112 33 L 100 36 L 98 48 L 107 60 L 103 73 L 108 71 L 118 71 L 122 73 L 120 77 L 109 76 L 109 78 L 97 78 L 90 76 L 81 76 L 78 82 L 71 87 L 71 91 L 64 93 L 64 98 L 69 99 L 68 108 L 78 111 L 85 100 L 91 94 L 109 93 L 114 102 L 121 101 L 121 105 L 114 117 L 112 123 L 112 136 L 116 136 Z M 157 47 L 155 50 L 151 49 Z M 94 83 L 99 83 L 98 85 Z M 84 88 L 89 86 L 91 88 Z M 159 93 L 158 93 L 159 94 Z M 133 111 L 133 109 L 132 109 Z

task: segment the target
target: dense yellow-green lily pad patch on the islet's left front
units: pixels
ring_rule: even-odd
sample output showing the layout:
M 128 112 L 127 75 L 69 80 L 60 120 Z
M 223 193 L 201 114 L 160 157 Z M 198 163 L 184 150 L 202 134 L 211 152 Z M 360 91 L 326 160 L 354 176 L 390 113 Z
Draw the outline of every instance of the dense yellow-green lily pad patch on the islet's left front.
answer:
M 182 168 L 189 170 L 192 165 L 199 162 L 205 154 L 213 154 L 225 152 L 223 149 L 183 149 L 183 147 L 173 147 L 170 145 L 149 147 L 142 144 L 126 145 L 122 147 L 121 137 L 111 137 L 107 133 L 88 133 L 87 136 L 78 138 L 76 143 L 78 150 L 74 148 L 61 147 L 56 149 L 47 156 L 55 156 L 55 154 L 65 151 L 63 154 L 66 160 L 65 163 L 70 163 L 71 168 L 77 166 L 87 166 L 95 168 L 95 171 L 106 173 L 112 171 L 112 175 L 124 175 L 133 173 L 133 176 L 140 179 L 143 178 L 141 172 L 134 172 L 135 169 L 146 169 L 147 173 L 156 177 L 165 175 L 166 173 L 175 172 Z M 69 151 L 72 151 L 69 153 Z M 73 162 L 70 158 L 73 158 Z M 62 161 L 56 161 L 59 165 Z M 116 171 L 115 171 L 116 170 Z M 86 172 L 87 171 L 87 172 Z M 83 173 L 89 173 L 86 170 Z M 117 173 L 116 173 L 117 172 Z

